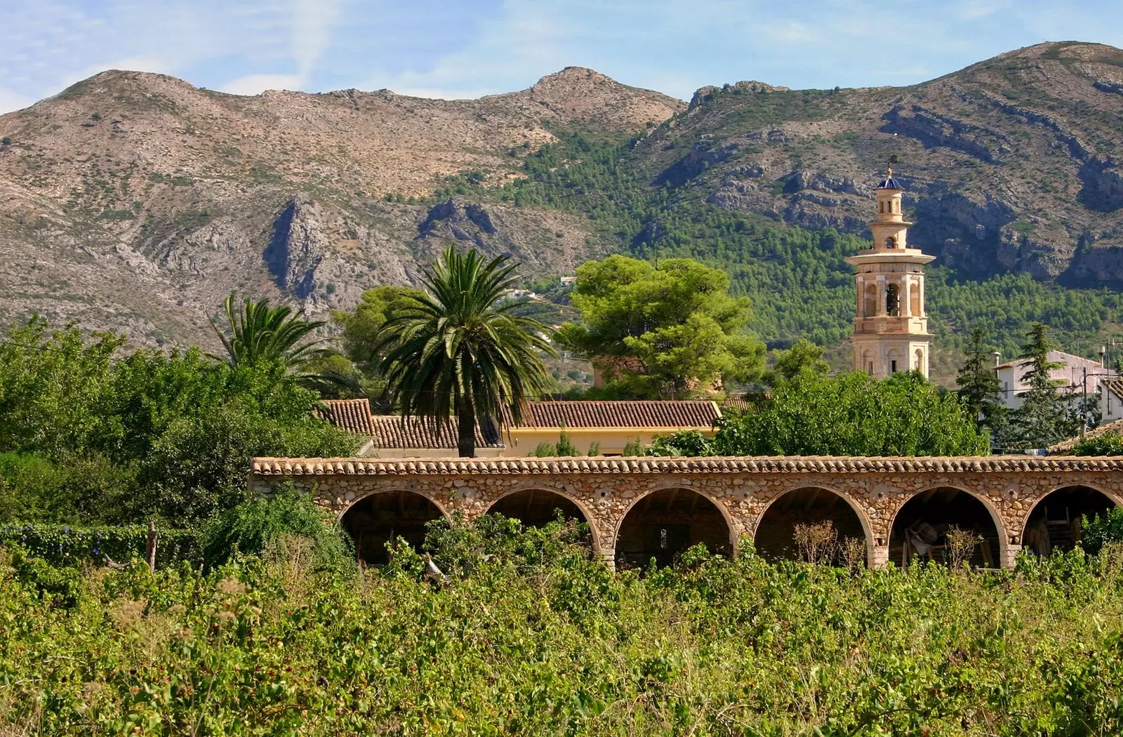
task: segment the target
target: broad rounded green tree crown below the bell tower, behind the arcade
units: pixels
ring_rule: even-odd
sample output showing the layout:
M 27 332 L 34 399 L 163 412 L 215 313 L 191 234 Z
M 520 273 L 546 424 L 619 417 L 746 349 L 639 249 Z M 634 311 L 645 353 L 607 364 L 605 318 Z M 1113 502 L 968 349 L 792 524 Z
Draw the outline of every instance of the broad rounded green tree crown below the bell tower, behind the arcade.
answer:
M 718 427 L 713 455 L 976 455 L 988 445 L 959 399 L 915 372 L 806 373 Z

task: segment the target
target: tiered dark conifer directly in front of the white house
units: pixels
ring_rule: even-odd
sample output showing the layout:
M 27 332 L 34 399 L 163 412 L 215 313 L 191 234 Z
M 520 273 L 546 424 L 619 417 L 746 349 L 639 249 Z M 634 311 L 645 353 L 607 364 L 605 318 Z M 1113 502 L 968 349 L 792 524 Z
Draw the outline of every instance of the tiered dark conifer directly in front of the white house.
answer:
M 1072 412 L 1072 402 L 1058 391 L 1063 383 L 1053 380 L 1054 368 L 1063 363 L 1049 360 L 1049 352 L 1057 345 L 1048 328 L 1034 322 L 1017 356 L 1019 368 L 1024 368 L 1022 380 L 1029 389 L 1021 394 L 1022 404 L 1010 413 L 1010 442 L 1029 448 L 1044 448 L 1058 440 L 1076 435 L 1078 420 Z

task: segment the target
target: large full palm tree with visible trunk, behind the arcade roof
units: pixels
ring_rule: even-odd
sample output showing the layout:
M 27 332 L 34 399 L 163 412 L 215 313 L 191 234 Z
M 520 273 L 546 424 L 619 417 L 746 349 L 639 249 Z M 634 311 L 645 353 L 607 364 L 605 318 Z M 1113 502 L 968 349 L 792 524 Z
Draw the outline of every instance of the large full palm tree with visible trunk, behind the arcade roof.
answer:
M 526 402 L 550 386 L 540 354 L 555 355 L 538 320 L 500 303 L 515 283 L 506 256 L 484 262 L 449 246 L 421 281 L 427 293 L 384 326 L 382 366 L 402 415 L 435 422 L 457 419 L 460 456 L 476 454 L 476 422 L 508 410 L 522 419 Z

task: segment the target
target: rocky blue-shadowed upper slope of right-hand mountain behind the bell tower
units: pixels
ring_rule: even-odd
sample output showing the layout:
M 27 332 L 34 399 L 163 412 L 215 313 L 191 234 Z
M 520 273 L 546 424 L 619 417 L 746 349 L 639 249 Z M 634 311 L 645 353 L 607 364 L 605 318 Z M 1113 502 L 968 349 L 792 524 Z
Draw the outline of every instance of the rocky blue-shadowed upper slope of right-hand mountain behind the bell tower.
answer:
M 1123 52 L 1076 43 L 910 88 L 702 88 L 636 161 L 718 207 L 867 235 L 877 173 L 896 162 L 910 240 L 961 275 L 1119 283 L 1120 90 Z

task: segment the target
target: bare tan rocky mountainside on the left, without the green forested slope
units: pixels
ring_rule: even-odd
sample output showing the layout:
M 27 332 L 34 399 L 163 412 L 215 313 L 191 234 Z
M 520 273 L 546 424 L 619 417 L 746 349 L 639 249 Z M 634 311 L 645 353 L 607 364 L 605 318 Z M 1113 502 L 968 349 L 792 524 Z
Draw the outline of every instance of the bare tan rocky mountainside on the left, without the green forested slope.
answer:
M 0 117 L 0 317 L 206 343 L 232 290 L 322 315 L 448 240 L 568 273 L 603 249 L 582 218 L 410 198 L 460 172 L 499 183 L 557 130 L 627 135 L 684 108 L 577 67 L 457 101 L 104 72 Z

